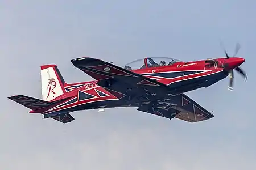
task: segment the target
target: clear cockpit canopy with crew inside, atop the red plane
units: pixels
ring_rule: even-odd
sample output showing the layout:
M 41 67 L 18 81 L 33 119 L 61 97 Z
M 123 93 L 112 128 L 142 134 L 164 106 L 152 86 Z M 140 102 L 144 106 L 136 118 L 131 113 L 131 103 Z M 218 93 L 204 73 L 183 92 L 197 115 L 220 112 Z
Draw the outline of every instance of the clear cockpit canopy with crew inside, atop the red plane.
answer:
M 123 66 L 126 70 L 137 70 L 145 69 L 150 67 L 159 67 L 159 66 L 170 66 L 176 62 L 180 62 L 178 59 L 171 57 L 146 57 L 143 59 L 137 59 L 133 62 L 128 63 Z

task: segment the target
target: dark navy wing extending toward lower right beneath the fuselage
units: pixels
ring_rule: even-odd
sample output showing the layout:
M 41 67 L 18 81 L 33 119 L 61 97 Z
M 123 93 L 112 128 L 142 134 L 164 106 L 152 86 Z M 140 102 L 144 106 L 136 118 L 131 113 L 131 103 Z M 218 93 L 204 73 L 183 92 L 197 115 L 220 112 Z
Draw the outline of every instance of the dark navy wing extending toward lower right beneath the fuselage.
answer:
M 175 117 L 187 122 L 199 122 L 214 117 L 213 114 L 185 94 L 172 96 L 166 103 L 169 103 L 170 106 L 160 103 L 153 109 L 151 104 L 146 104 L 141 105 L 137 110 L 169 119 Z

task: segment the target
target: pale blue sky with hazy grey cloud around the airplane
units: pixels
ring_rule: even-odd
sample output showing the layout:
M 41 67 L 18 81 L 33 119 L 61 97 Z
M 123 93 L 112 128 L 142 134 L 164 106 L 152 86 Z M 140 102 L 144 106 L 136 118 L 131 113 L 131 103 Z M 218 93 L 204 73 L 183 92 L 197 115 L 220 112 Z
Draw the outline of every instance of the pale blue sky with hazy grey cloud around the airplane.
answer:
M 256 169 L 256 2 L 0 1 L 1 169 Z M 41 99 L 40 65 L 56 64 L 68 83 L 92 80 L 71 59 L 90 56 L 123 66 L 146 56 L 181 61 L 232 56 L 247 82 L 228 78 L 186 93 L 214 118 L 191 124 L 136 108 L 73 112 L 61 124 L 7 99 Z

